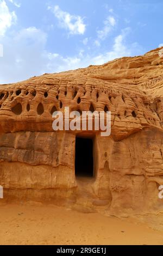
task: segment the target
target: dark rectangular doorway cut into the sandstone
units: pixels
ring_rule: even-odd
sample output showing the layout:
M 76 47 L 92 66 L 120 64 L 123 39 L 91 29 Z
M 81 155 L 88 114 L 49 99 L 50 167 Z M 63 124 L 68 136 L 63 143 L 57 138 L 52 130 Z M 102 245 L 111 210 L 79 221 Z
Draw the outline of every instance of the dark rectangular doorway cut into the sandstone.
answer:
M 76 138 L 76 176 L 93 177 L 93 141 Z

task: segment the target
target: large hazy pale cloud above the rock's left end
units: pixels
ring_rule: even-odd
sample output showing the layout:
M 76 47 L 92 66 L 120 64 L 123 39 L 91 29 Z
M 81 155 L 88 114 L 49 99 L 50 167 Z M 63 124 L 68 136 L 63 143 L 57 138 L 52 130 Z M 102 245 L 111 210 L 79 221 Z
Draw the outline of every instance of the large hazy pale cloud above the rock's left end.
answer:
M 46 70 L 46 33 L 35 27 L 22 29 L 2 39 L 3 58 L 0 58 L 0 83 L 21 81 Z

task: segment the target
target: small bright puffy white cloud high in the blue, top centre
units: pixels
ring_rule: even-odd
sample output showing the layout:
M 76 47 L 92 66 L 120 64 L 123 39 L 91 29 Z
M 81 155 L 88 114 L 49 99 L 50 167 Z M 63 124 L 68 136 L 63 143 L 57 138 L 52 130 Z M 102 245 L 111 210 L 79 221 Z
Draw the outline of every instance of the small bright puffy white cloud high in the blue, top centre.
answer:
M 70 34 L 80 34 L 83 35 L 86 30 L 86 25 L 83 21 L 83 18 L 76 15 L 71 15 L 66 11 L 62 11 L 58 5 L 54 7 L 48 7 L 49 10 L 52 10 L 55 17 L 59 20 L 59 24 L 62 28 L 65 28 Z

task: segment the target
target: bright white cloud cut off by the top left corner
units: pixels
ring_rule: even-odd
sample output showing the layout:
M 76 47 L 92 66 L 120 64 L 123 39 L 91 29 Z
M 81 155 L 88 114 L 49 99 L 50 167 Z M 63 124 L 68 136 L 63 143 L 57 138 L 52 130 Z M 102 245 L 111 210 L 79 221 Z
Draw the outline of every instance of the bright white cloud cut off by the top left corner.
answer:
M 0 36 L 4 36 L 8 28 L 16 23 L 15 11 L 10 12 L 4 0 L 0 0 Z

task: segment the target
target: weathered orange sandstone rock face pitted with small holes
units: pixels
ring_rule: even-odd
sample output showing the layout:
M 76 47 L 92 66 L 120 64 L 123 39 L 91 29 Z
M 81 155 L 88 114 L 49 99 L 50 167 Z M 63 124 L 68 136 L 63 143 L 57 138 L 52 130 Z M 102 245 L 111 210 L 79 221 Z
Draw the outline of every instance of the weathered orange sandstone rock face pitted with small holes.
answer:
M 77 209 L 159 211 L 163 185 L 163 48 L 101 66 L 0 86 L 4 200 Z M 111 111 L 111 136 L 52 129 L 52 113 Z M 76 174 L 76 138 L 93 141 L 93 176 Z M 91 153 L 90 153 L 91 154 Z M 83 150 L 83 161 L 84 150 Z

